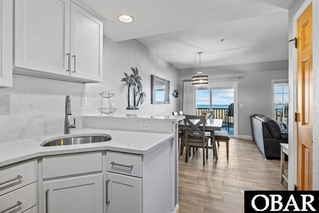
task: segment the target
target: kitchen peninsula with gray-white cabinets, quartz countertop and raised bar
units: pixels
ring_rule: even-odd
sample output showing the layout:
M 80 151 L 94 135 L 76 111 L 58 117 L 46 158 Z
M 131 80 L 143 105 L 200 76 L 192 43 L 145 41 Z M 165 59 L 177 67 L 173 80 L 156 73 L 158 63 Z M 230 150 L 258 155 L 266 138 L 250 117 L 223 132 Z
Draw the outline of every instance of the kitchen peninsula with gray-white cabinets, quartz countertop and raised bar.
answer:
M 177 157 L 175 147 L 178 143 L 175 143 L 175 127 L 182 117 L 84 116 L 83 128 L 71 130 L 70 137 L 108 134 L 112 139 L 90 144 L 40 146 L 43 141 L 50 138 L 65 137 L 62 134 L 56 134 L 3 142 L 0 147 L 0 183 L 13 176 L 18 179 L 12 181 L 9 184 L 10 187 L 7 184 L 4 184 L 4 188 L 3 185 L 0 186 L 0 206 L 5 204 L 3 207 L 9 208 L 17 204 L 17 201 L 14 201 L 12 205 L 8 203 L 13 200 L 12 198 L 18 197 L 16 193 L 25 195 L 33 192 L 33 196 L 29 196 L 33 198 L 32 201 L 22 196 L 22 200 L 27 200 L 19 201 L 22 202 L 19 205 L 26 208 L 22 210 L 25 213 L 34 213 L 34 209 L 40 213 L 53 213 L 59 207 L 64 209 L 64 203 L 54 206 L 59 197 L 59 191 L 68 194 L 71 193 L 68 189 L 77 189 L 78 193 L 86 192 L 86 190 L 94 192 L 92 201 L 87 202 L 92 204 L 95 213 L 109 213 L 115 212 L 120 204 L 117 195 L 121 187 L 130 185 L 130 188 L 124 189 L 127 190 L 124 191 L 124 199 L 132 196 L 128 192 L 133 189 L 133 203 L 122 204 L 121 208 L 136 210 L 133 212 L 176 212 L 178 168 L 175 165 L 178 164 L 175 159 Z M 115 127 L 121 122 L 126 125 L 116 129 Z M 109 123 L 113 128 L 107 128 L 106 125 L 100 125 L 97 128 L 96 125 L 99 123 Z M 148 125 L 149 132 L 145 130 L 142 133 L 132 127 L 128 130 L 130 126 L 136 126 L 137 123 L 139 127 L 141 124 Z M 170 128 L 168 128 L 169 123 Z M 153 127 L 159 127 L 163 133 L 152 130 Z M 123 168 L 123 165 L 124 167 L 128 165 L 129 169 Z M 25 175 L 19 173 L 19 168 Z M 24 177 L 29 176 L 32 176 L 29 178 L 30 181 L 24 181 Z M 120 186 L 119 183 L 122 185 Z M 88 188 L 85 189 L 84 186 Z M 23 189 L 26 191 L 22 192 Z M 74 196 L 81 197 L 80 194 Z M 121 197 L 123 199 L 123 196 Z M 140 203 L 136 202 L 139 198 Z M 53 199 L 55 199 L 54 202 Z M 76 210 L 90 208 L 90 205 L 85 203 L 83 202 Z

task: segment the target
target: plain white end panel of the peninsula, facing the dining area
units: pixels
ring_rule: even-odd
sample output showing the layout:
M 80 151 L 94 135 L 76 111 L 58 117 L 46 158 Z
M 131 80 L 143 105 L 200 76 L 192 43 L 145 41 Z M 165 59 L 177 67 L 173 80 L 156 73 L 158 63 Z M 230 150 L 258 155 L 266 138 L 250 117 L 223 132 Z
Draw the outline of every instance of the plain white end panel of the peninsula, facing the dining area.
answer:
M 171 149 L 173 139 L 143 155 L 143 212 L 171 212 Z

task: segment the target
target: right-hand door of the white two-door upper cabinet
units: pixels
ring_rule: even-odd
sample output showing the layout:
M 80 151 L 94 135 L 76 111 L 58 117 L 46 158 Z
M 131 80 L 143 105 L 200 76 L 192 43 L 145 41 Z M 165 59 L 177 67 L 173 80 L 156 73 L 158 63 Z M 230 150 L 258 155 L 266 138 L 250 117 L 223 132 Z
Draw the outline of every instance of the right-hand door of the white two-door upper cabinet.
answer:
M 71 76 L 103 81 L 103 22 L 71 3 Z

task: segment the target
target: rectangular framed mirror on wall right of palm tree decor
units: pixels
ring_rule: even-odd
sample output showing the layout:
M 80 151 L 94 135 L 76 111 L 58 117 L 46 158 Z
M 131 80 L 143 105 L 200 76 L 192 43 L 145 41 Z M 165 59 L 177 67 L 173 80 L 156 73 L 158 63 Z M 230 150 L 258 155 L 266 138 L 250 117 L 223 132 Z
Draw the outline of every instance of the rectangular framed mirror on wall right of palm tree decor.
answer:
M 169 104 L 169 81 L 152 75 L 152 104 Z

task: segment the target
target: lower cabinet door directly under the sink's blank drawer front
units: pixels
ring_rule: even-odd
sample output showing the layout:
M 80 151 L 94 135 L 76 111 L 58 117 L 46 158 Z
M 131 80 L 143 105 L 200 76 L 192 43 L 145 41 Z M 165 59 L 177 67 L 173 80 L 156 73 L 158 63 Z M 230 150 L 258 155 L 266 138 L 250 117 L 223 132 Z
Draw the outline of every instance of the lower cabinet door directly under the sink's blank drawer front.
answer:
M 102 213 L 103 175 L 46 181 L 43 195 L 44 213 Z

